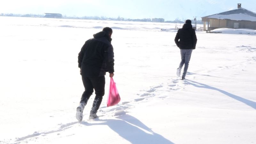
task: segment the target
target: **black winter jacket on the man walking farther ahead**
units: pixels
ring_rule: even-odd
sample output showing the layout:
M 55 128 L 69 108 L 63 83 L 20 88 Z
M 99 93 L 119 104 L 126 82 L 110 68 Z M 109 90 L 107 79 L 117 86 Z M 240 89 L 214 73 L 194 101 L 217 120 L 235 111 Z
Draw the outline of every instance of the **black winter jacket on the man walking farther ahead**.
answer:
M 185 23 L 178 30 L 174 41 L 180 49 L 195 49 L 197 42 L 195 29 L 192 28 L 190 23 Z

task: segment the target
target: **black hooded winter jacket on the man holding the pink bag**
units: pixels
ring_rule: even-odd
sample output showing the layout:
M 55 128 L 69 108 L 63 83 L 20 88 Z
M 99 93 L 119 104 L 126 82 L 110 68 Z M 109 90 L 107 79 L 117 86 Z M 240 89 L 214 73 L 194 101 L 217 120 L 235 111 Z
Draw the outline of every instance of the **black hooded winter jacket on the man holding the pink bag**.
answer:
M 105 76 L 114 73 L 114 52 L 111 38 L 104 31 L 85 42 L 78 54 L 82 76 Z

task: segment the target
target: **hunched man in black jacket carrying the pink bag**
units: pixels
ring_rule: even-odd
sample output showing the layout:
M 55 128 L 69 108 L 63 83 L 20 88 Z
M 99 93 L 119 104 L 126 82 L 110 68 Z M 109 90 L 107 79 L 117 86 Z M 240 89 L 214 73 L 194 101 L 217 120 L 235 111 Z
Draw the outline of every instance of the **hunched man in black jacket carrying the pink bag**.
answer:
M 82 75 L 84 84 L 84 93 L 82 94 L 80 104 L 76 108 L 76 119 L 83 120 L 83 110 L 87 101 L 95 90 L 95 98 L 90 112 L 90 119 L 97 118 L 96 115 L 102 97 L 105 94 L 105 75 L 109 72 L 109 77 L 114 76 L 114 52 L 111 44 L 111 28 L 103 28 L 92 39 L 85 42 L 78 54 L 78 67 Z

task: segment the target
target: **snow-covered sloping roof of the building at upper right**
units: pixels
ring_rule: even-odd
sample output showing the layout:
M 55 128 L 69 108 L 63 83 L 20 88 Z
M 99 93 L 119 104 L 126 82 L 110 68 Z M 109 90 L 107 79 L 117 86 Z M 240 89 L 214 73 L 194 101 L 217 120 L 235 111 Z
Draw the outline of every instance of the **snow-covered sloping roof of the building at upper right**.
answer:
M 235 10 L 221 12 L 217 14 L 213 14 L 210 16 L 206 16 L 207 18 L 212 19 L 228 19 L 228 20 L 248 20 L 248 21 L 256 21 L 256 13 L 246 10 L 244 8 L 238 8 Z

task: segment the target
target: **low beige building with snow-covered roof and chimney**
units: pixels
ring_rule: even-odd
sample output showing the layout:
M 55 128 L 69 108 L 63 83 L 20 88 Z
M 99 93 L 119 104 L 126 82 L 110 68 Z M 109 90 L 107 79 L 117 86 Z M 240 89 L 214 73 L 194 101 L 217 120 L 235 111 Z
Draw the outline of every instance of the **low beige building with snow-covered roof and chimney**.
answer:
M 204 30 L 216 28 L 256 29 L 256 13 L 246 10 L 237 4 L 237 9 L 202 17 Z M 206 28 L 207 23 L 207 28 Z

